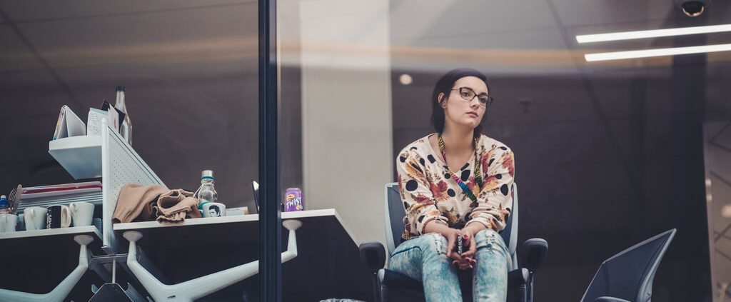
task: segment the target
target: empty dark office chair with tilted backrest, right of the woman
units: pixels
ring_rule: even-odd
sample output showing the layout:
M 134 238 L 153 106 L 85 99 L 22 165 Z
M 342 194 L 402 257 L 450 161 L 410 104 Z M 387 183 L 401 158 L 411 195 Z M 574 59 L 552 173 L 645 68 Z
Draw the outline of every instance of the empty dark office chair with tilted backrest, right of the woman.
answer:
M 581 301 L 649 302 L 655 272 L 675 231 L 668 230 L 605 260 Z

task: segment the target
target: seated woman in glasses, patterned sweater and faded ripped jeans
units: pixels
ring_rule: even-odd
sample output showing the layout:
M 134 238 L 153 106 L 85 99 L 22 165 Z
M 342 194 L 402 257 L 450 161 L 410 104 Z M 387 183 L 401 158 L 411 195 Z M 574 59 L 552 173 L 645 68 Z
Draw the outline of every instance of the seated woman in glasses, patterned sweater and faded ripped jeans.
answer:
M 485 81 L 474 69 L 447 72 L 431 99 L 436 133 L 396 158 L 406 241 L 389 269 L 422 280 L 426 301 L 461 301 L 458 269 L 472 271 L 474 301 L 506 299 L 510 253 L 498 232 L 510 215 L 515 166 L 510 148 L 480 133 L 492 102 Z

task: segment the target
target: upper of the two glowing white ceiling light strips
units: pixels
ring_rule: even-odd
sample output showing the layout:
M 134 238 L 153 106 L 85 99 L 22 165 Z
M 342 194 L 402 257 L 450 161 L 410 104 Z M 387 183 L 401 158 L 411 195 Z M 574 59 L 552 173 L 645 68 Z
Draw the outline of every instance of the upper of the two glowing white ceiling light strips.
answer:
M 609 34 L 585 34 L 576 36 L 576 42 L 593 43 L 605 41 L 619 41 L 626 39 L 646 39 L 656 37 L 683 36 L 686 34 L 710 34 L 714 32 L 731 31 L 731 24 L 681 27 L 679 29 L 654 29 L 651 31 L 625 31 Z

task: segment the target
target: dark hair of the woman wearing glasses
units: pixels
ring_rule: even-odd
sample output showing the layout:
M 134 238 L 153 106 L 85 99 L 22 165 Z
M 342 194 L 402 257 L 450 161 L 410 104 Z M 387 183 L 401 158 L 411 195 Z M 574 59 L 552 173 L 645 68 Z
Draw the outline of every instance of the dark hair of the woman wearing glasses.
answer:
M 437 98 L 439 97 L 439 94 L 444 94 L 445 97 L 449 95 L 450 90 L 455 85 L 455 82 L 464 77 L 480 78 L 482 82 L 485 82 L 485 86 L 488 86 L 488 91 L 490 90 L 490 86 L 488 85 L 488 78 L 485 77 L 482 72 L 478 72 L 475 69 L 456 68 L 450 70 L 450 72 L 447 72 L 446 75 L 442 76 L 442 78 L 436 81 L 436 86 L 434 86 L 434 91 L 431 94 L 431 124 L 434 125 L 434 129 L 437 133 L 444 132 L 445 118 L 444 108 L 442 108 L 441 102 L 439 102 L 439 99 Z M 482 121 L 480 121 L 480 124 L 477 124 L 477 127 L 474 127 L 474 136 L 480 136 L 481 132 Z

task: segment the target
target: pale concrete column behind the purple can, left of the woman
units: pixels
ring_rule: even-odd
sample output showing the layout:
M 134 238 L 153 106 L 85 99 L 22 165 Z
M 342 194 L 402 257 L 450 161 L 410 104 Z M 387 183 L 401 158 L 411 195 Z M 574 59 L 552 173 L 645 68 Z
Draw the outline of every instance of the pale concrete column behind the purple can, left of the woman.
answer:
M 306 208 L 335 208 L 358 243 L 385 242 L 393 181 L 388 12 L 387 0 L 300 1 Z

